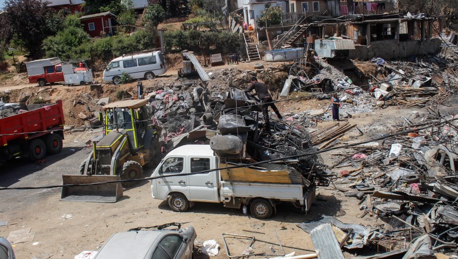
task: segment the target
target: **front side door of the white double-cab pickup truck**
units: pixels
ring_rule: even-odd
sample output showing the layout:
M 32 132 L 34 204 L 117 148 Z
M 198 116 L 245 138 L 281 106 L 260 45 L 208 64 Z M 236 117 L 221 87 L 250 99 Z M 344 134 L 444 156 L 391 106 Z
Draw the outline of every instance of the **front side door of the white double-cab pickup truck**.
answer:
M 162 178 L 156 179 L 158 196 L 162 197 L 170 192 L 181 192 L 186 198 L 189 198 L 189 189 L 187 184 L 187 176 L 167 177 L 172 174 L 184 174 L 185 170 L 184 157 L 168 157 L 162 163 L 161 170 Z

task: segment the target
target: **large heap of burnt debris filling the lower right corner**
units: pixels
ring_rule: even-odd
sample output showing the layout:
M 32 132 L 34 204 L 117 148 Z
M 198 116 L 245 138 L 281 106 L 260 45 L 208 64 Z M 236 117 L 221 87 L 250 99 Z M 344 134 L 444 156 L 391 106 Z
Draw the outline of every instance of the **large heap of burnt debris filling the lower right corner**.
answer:
M 406 122 L 402 131 L 408 133 L 359 145 L 333 165 L 337 177 L 331 186 L 360 200 L 361 218 L 385 222 L 370 235 L 344 233 L 350 240 L 364 237 L 357 244 L 370 240 L 398 252 L 421 237 L 427 254 L 453 253 L 458 238 L 458 116 L 431 112 Z

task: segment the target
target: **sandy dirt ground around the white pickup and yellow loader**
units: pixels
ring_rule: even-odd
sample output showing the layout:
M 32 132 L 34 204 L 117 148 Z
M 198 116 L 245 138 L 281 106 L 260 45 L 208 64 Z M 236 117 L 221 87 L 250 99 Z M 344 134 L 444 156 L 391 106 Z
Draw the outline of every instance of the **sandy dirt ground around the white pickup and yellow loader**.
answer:
M 391 128 L 403 121 L 400 116 L 413 114 L 412 111 L 414 110 L 387 108 L 354 116 L 350 119 L 351 122 L 357 123 L 366 133 L 354 141 L 390 132 Z M 384 120 L 380 120 L 382 117 Z M 82 159 L 90 152 L 90 149 L 84 148 L 84 142 L 99 134 L 66 134 L 63 151 L 47 157 L 43 164 L 30 164 L 26 160 L 1 164 L 1 185 L 18 187 L 61 184 L 62 175 L 77 174 Z M 350 132 L 349 136 L 358 134 L 357 131 Z M 336 159 L 330 152 L 324 153 L 323 158 L 328 165 Z M 150 173 L 151 171 L 147 171 L 145 175 Z M 258 239 L 277 243 L 276 232 L 282 245 L 310 250 L 285 249 L 285 252 L 303 254 L 311 253 L 314 249 L 309 235 L 299 229 L 297 223 L 311 220 L 319 214 L 334 216 L 348 223 L 374 225 L 377 222 L 371 217 L 357 217 L 360 213 L 359 201 L 356 198 L 344 197 L 331 186 L 318 188 L 318 199 L 308 214 L 300 214 L 289 206 L 282 205 L 277 207 L 277 213 L 268 220 L 243 216 L 242 210 L 210 203 L 197 203 L 184 213 L 173 212 L 166 202 L 152 199 L 150 183 L 147 181 L 125 189 L 124 197 L 112 204 L 62 202 L 59 201 L 60 192 L 60 188 L 0 191 L 0 220 L 8 221 L 8 225 L 0 226 L 0 236 L 7 237 L 12 231 L 26 228 L 31 228 L 31 233 L 35 233 L 33 241 L 15 244 L 17 258 L 73 258 L 83 250 L 97 250 L 116 232 L 173 221 L 189 222 L 186 225 L 193 225 L 198 242 L 217 240 L 221 250 L 214 258 L 226 258 L 222 233 L 255 235 Z M 265 234 L 253 234 L 244 230 Z M 232 240 L 230 245 L 235 249 L 234 253 L 241 252 L 245 247 L 236 240 Z M 271 248 L 277 254 L 280 252 L 278 246 L 265 247 L 269 252 L 272 252 Z M 195 255 L 195 258 L 207 258 L 197 253 Z

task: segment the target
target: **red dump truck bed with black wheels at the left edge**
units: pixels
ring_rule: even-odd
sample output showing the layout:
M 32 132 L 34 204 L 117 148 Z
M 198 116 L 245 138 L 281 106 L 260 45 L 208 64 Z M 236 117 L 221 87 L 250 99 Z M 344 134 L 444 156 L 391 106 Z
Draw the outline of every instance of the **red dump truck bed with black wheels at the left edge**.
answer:
M 0 161 L 18 157 L 36 161 L 46 154 L 61 152 L 64 139 L 62 101 L 22 105 L 11 114 L 0 117 Z

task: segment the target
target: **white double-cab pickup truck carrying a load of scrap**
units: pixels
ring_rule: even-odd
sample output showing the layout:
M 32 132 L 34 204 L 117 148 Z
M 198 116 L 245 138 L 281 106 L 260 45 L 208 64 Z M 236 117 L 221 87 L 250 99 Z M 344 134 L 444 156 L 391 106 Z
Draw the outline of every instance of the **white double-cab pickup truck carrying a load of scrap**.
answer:
M 154 199 L 168 200 L 170 208 L 180 212 L 192 207 L 194 202 L 222 202 L 225 207 L 229 208 L 241 208 L 246 205 L 249 206 L 251 214 L 256 218 L 269 218 L 280 202 L 291 202 L 303 212 L 310 209 L 315 187 L 302 178 L 297 171 L 294 181 L 296 183 L 290 181 L 285 170 L 266 171 L 261 169 L 261 171 L 256 171 L 252 168 L 239 170 L 239 172 L 241 171 L 239 176 L 242 175 L 242 177 L 251 172 L 250 179 L 257 177 L 254 181 L 236 181 L 232 177 L 230 177 L 231 181 L 224 181 L 223 179 L 228 176 L 237 177 L 236 170 L 232 169 L 183 175 L 225 167 L 225 164 L 219 165 L 220 158 L 214 155 L 209 145 L 178 147 L 162 159 L 151 175 L 152 177 L 162 176 L 151 180 L 152 196 Z M 255 169 L 259 170 L 260 168 Z M 257 174 L 258 172 L 259 174 Z M 171 177 L 171 175 L 174 176 Z M 278 178 L 280 175 L 282 177 Z M 290 181 L 290 183 L 262 182 L 269 177 L 279 179 L 275 182 Z

